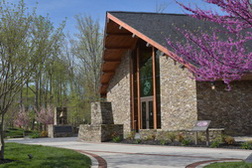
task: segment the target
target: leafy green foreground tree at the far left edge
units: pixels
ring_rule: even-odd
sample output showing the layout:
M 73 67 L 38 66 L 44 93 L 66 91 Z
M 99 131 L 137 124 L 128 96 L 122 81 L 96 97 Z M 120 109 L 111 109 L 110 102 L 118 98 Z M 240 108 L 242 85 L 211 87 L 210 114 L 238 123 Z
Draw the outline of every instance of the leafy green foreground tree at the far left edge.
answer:
M 4 116 L 38 65 L 46 60 L 47 55 L 38 52 L 47 48 L 43 39 L 35 36 L 46 31 L 34 29 L 40 17 L 35 11 L 29 13 L 23 0 L 16 5 L 2 0 L 0 6 L 0 159 L 4 159 Z

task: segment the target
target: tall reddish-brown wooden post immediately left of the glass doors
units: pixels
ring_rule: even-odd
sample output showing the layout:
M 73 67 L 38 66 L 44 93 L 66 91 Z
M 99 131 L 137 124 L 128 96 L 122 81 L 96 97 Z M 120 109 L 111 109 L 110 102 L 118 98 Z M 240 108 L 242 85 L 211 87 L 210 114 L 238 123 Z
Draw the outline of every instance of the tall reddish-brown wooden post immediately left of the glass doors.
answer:
M 139 57 L 140 51 L 137 47 L 137 111 L 138 111 L 138 129 L 142 129 L 142 115 L 141 115 L 141 100 L 140 100 L 140 66 Z

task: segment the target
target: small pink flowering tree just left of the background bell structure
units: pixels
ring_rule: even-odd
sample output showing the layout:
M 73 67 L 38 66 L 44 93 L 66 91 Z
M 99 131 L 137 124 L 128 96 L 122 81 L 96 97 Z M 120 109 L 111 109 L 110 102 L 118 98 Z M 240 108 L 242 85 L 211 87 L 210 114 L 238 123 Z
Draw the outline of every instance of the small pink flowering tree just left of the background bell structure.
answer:
M 52 106 L 47 106 L 46 108 L 41 107 L 40 110 L 35 109 L 36 120 L 43 124 L 45 127 L 49 124 L 53 124 L 54 112 Z

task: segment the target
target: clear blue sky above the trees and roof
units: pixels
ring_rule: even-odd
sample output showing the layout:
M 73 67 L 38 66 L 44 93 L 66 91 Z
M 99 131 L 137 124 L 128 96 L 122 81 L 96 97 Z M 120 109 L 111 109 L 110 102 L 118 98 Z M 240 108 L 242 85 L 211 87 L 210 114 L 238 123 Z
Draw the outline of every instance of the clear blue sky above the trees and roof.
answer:
M 6 0 L 18 2 L 18 0 Z M 216 9 L 203 0 L 178 0 L 184 4 L 197 5 L 203 9 Z M 37 12 L 46 16 L 49 14 L 52 22 L 57 26 L 67 17 L 65 32 L 71 35 L 76 33 L 74 16 L 77 14 L 91 15 L 98 19 L 104 27 L 106 11 L 134 11 L 155 12 L 158 4 L 166 4 L 164 13 L 185 13 L 174 0 L 24 0 L 29 8 L 35 7 L 38 2 Z

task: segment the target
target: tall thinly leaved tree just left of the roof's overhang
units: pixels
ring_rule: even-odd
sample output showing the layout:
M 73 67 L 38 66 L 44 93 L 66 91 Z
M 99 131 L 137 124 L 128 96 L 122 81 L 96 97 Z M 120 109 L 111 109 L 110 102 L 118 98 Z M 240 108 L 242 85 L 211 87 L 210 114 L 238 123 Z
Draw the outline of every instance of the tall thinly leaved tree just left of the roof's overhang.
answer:
M 92 17 L 77 15 L 75 19 L 78 33 L 71 40 L 71 55 L 77 61 L 72 69 L 75 82 L 72 83 L 74 90 L 71 92 L 69 105 L 73 123 L 83 123 L 84 120 L 90 122 L 90 102 L 100 98 L 103 36 L 99 22 Z

